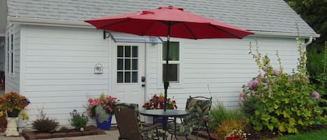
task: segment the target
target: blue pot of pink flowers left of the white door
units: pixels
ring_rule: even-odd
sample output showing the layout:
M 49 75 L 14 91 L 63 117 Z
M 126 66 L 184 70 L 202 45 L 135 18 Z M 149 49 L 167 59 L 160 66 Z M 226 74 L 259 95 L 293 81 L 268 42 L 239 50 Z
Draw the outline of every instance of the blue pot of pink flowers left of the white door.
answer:
M 96 125 L 101 130 L 110 130 L 112 115 L 114 115 L 114 105 L 117 98 L 102 93 L 99 98 L 89 98 L 87 111 L 91 118 L 96 118 Z

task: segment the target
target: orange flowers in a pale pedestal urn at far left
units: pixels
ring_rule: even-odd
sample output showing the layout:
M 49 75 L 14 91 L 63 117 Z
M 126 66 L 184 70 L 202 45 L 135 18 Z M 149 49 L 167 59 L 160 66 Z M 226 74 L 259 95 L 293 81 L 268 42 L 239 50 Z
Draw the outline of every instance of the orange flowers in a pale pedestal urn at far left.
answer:
M 29 100 L 19 93 L 10 92 L 3 95 L 0 98 L 0 116 L 7 115 L 7 129 L 6 136 L 18 136 L 17 132 L 17 120 L 18 115 L 22 111 L 22 119 L 28 120 L 29 116 L 27 116 L 26 111 L 24 110 L 26 106 L 29 104 Z

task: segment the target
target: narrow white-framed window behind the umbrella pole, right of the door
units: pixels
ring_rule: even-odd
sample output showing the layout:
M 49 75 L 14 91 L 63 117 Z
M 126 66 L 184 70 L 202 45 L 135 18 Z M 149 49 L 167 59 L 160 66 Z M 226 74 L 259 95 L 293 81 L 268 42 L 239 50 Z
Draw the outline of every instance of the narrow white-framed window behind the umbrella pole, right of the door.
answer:
M 165 79 L 167 42 L 162 44 L 162 81 Z M 179 82 L 179 42 L 170 42 L 169 45 L 169 64 L 167 78 L 172 83 Z

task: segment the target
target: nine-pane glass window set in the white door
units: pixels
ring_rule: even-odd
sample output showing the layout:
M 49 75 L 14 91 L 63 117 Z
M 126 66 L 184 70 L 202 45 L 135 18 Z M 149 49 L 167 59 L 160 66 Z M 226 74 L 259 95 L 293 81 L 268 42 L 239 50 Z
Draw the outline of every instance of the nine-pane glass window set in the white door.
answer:
M 138 47 L 117 46 L 117 83 L 137 83 Z

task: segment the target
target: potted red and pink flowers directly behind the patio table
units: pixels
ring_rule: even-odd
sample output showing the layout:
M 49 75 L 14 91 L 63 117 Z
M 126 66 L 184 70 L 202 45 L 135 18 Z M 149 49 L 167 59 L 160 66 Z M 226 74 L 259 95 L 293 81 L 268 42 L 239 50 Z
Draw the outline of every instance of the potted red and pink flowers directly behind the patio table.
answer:
M 164 108 L 165 97 L 160 93 L 160 95 L 153 95 L 153 97 L 143 104 L 144 109 L 163 109 Z M 176 101 L 167 98 L 167 108 L 166 109 L 177 109 Z M 162 117 L 153 118 L 154 123 L 161 123 Z

